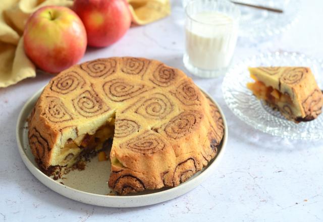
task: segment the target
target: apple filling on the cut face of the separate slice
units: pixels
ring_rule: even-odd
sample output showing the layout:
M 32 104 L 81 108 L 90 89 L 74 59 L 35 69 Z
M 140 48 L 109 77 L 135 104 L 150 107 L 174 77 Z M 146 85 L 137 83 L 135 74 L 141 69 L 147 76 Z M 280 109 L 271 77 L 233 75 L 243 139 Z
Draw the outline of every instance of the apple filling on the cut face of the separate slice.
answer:
M 262 99 L 275 106 L 283 103 L 288 103 L 290 106 L 293 106 L 292 99 L 289 95 L 280 92 L 272 86 L 266 86 L 253 75 L 250 75 L 250 77 L 254 79 L 255 82 L 247 83 L 247 87 L 258 99 Z

